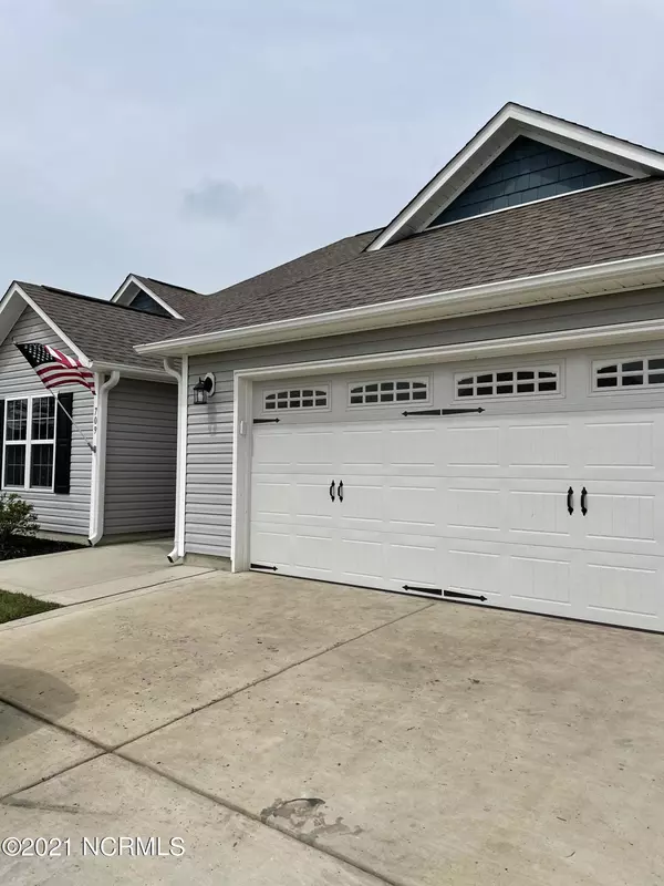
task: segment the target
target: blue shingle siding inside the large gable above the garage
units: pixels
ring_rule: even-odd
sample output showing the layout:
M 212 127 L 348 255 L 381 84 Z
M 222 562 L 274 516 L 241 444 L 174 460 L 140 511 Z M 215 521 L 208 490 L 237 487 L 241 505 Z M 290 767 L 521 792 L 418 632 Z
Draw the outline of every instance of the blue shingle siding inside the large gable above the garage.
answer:
M 626 177 L 592 161 L 519 135 L 432 225 L 457 222 Z

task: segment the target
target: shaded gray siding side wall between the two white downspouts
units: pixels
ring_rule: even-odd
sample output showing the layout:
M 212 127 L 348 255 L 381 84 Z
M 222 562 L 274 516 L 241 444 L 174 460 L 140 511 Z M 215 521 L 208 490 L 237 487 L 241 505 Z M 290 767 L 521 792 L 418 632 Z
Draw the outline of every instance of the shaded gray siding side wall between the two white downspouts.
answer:
M 177 385 L 121 379 L 108 392 L 104 535 L 172 533 Z

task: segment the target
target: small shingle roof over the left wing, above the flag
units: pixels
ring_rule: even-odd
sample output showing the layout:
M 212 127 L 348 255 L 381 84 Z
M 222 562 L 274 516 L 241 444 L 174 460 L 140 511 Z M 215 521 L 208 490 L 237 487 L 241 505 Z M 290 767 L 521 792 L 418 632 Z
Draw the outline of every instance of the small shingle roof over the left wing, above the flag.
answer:
M 17 282 L 91 360 L 163 369 L 160 358 L 141 357 L 134 346 L 172 337 L 184 327 L 181 320 L 174 318 L 124 308 L 77 292 Z

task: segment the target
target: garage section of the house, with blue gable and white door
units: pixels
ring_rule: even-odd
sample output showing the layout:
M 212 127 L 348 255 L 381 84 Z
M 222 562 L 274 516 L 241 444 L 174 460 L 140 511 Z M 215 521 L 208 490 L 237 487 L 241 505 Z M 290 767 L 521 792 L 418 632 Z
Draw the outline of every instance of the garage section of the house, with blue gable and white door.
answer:
M 136 351 L 181 360 L 177 556 L 664 630 L 664 154 L 507 104 Z

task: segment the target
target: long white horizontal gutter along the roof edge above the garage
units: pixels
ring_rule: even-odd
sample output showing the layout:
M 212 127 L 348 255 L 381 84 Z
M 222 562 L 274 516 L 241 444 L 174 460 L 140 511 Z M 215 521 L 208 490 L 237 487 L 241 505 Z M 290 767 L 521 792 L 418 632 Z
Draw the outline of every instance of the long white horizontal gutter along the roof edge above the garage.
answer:
M 137 344 L 141 354 L 206 353 L 216 350 L 276 344 L 302 338 L 359 332 L 377 327 L 416 323 L 470 313 L 487 313 L 538 301 L 599 296 L 664 282 L 664 253 L 498 280 L 461 289 L 345 308 L 291 320 L 257 323 L 239 329 L 204 332 Z

